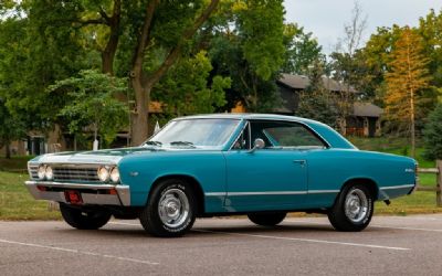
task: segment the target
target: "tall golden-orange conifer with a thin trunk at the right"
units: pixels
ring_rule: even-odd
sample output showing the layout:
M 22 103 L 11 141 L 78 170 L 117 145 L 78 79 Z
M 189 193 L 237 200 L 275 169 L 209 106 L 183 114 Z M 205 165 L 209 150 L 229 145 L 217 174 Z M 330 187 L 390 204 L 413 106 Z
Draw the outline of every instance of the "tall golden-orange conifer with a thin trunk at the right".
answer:
M 423 88 L 430 83 L 429 60 L 422 54 L 422 40 L 419 34 L 406 26 L 391 52 L 390 72 L 386 75 L 386 119 L 391 120 L 399 130 L 408 128 L 411 152 L 415 155 L 417 105 L 422 103 Z

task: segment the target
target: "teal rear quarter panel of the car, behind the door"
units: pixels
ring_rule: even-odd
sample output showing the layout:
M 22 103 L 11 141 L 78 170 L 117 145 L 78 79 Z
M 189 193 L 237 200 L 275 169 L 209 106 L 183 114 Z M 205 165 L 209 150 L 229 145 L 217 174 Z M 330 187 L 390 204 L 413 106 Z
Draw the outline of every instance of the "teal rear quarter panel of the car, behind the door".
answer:
M 340 191 L 352 179 L 369 179 L 377 184 L 378 200 L 407 194 L 415 184 L 411 158 L 356 149 L 312 150 L 308 153 L 308 190 Z M 392 189 L 393 188 L 393 189 Z M 337 193 L 309 194 L 311 202 L 332 206 Z

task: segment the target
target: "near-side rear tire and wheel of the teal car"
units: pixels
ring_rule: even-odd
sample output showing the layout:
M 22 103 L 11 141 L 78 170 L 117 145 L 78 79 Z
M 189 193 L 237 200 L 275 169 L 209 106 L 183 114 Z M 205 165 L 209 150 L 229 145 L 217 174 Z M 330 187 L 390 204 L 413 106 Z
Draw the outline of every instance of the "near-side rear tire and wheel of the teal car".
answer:
M 372 214 L 373 197 L 364 184 L 344 188 L 327 213 L 332 225 L 344 232 L 362 231 L 370 223 Z

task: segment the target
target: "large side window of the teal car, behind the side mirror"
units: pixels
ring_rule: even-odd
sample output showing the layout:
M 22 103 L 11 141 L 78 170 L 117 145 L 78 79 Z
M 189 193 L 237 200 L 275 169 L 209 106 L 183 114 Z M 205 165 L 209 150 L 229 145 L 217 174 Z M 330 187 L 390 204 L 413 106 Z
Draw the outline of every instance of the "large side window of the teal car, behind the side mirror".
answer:
M 301 124 L 288 121 L 252 121 L 252 141 L 261 138 L 266 148 L 325 147 L 324 142 Z

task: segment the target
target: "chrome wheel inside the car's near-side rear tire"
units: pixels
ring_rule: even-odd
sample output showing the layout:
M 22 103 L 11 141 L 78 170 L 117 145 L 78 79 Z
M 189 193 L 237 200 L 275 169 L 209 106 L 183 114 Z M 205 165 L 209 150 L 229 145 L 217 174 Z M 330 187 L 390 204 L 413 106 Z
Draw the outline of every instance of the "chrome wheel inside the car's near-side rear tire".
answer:
M 367 217 L 369 204 L 366 193 L 360 189 L 350 190 L 347 193 L 344 211 L 348 220 L 359 223 Z

